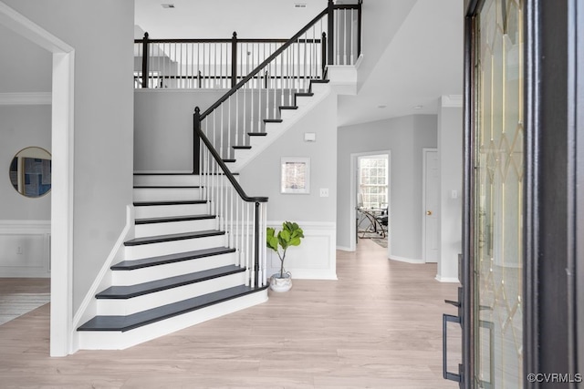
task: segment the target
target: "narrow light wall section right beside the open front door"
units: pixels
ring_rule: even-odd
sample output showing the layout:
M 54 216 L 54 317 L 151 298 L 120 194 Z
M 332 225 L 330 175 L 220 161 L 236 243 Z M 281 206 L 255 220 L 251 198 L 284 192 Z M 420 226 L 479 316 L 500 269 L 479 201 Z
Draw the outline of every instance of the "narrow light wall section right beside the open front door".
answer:
M 438 112 L 440 160 L 440 258 L 436 279 L 458 281 L 458 254 L 462 251 L 463 209 L 463 108 L 441 98 Z M 459 101 L 462 103 L 462 100 Z M 452 191 L 457 198 L 453 199 Z

